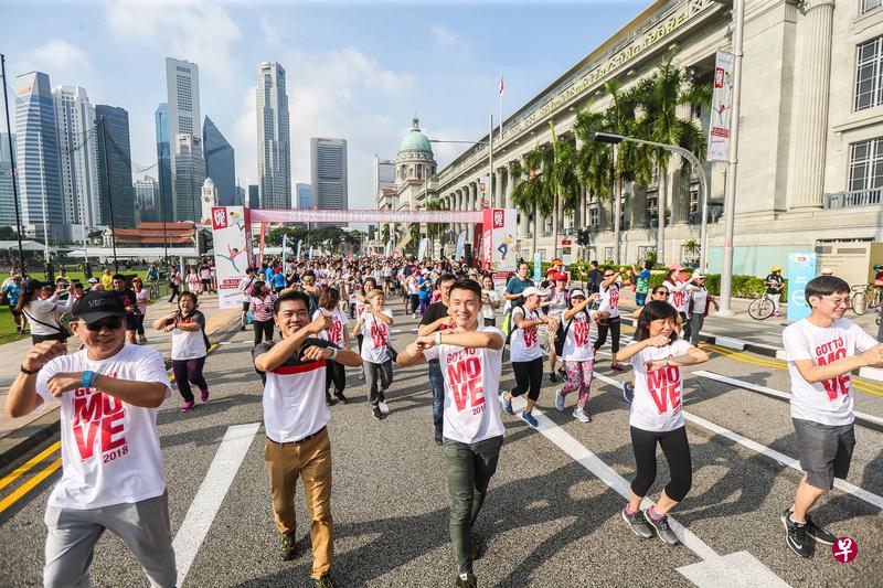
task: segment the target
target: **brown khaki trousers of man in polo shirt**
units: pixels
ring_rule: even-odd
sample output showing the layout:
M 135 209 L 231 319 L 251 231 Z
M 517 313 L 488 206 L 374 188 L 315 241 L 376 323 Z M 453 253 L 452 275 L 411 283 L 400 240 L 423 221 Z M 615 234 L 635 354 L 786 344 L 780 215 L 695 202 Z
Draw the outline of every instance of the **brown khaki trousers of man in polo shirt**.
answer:
M 312 542 L 312 577 L 331 570 L 334 534 L 331 518 L 331 441 L 322 429 L 302 442 L 277 443 L 266 440 L 264 459 L 269 471 L 273 512 L 276 528 L 287 534 L 295 531 L 295 489 L 304 480 L 307 513 Z

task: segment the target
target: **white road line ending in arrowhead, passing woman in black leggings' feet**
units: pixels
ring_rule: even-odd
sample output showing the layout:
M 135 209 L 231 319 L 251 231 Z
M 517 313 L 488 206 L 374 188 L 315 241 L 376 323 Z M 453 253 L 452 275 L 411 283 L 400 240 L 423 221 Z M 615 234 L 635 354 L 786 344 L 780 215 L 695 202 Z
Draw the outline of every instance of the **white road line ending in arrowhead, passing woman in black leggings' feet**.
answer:
M 513 398 L 512 405 L 517 410 L 522 410 L 526 405 L 526 400 L 523 397 Z M 532 415 L 540 424 L 536 429 L 540 434 L 624 499 L 629 499 L 630 484 L 625 478 L 546 417 L 542 410 L 534 407 Z M 652 501 L 645 498 L 641 506 L 647 507 L 651 504 Z M 702 559 L 696 564 L 678 568 L 678 571 L 700 588 L 788 586 L 749 553 L 738 552 L 721 556 L 692 531 L 671 516 L 669 516 L 669 525 L 674 531 L 674 534 L 678 535 L 680 542 Z

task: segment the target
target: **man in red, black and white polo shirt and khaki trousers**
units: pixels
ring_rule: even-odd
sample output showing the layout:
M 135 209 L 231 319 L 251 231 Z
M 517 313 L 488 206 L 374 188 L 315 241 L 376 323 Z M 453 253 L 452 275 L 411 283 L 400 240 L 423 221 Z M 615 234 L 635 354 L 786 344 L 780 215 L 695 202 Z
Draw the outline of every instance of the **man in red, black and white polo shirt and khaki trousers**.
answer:
M 334 553 L 331 518 L 331 419 L 325 402 L 326 368 L 329 360 L 358 367 L 357 353 L 338 350 L 318 335 L 331 327 L 331 317 L 310 321 L 309 299 L 298 290 L 276 299 L 274 317 L 281 341 L 257 345 L 252 356 L 255 368 L 265 373 L 264 457 L 269 471 L 273 512 L 281 535 L 281 558 L 296 555 L 295 489 L 304 480 L 304 495 L 310 515 L 312 543 L 311 578 L 317 588 L 333 588 L 331 558 Z

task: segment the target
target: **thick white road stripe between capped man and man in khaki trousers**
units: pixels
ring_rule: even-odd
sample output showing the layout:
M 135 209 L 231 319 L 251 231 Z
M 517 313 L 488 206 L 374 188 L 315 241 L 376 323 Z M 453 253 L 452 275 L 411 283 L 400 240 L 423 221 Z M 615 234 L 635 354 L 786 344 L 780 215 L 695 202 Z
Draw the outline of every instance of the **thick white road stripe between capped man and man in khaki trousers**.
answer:
M 187 511 L 184 522 L 181 523 L 172 542 L 174 562 L 178 566 L 178 586 L 183 586 L 190 566 L 193 565 L 193 559 L 259 427 L 259 423 L 227 427 L 224 439 L 217 447 L 209 471 L 196 491 L 196 496 Z

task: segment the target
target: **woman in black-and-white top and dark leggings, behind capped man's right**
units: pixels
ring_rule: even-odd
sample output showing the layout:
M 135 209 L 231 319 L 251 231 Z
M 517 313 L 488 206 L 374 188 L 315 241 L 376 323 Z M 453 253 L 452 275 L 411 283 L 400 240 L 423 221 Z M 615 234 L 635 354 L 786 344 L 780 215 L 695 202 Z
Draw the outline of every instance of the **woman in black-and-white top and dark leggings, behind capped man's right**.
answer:
M 181 292 L 178 298 L 178 311 L 161 317 L 153 323 L 157 331 L 172 334 L 172 372 L 178 392 L 184 399 L 182 413 L 190 413 L 195 406 L 190 384 L 200 388 L 200 399 L 209 402 L 209 384 L 202 375 L 205 356 L 209 355 L 205 336 L 205 317 L 196 310 L 196 295 Z

